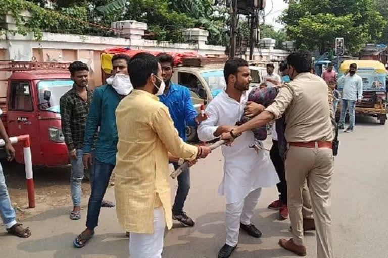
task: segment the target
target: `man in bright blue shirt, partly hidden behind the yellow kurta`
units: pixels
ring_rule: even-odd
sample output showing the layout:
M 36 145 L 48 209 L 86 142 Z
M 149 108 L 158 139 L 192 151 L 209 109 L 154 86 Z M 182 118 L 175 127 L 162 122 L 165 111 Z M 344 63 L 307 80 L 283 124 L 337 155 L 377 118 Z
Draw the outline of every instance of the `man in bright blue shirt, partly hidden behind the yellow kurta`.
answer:
M 206 114 L 202 116 L 197 113 L 192 104 L 190 91 L 186 87 L 171 82 L 171 77 L 174 73 L 173 57 L 166 53 L 160 53 L 157 55 L 157 58 L 162 66 L 162 77 L 166 84 L 164 94 L 159 96 L 159 100 L 168 107 L 179 136 L 184 141 L 187 141 L 186 126 L 197 126 L 206 120 L 207 116 Z M 174 168 L 177 169 L 181 163 L 183 163 L 182 160 L 173 163 Z M 190 171 L 186 169 L 178 176 L 178 189 L 172 207 L 172 218 L 186 227 L 193 227 L 194 221 L 183 211 L 189 189 Z

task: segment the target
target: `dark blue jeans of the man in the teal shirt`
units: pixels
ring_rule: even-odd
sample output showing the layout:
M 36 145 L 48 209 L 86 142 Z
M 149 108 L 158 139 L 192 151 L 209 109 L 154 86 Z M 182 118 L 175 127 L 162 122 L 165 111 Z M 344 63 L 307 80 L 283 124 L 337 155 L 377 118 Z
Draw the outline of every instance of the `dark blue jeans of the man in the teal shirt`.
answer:
M 94 229 L 99 221 L 101 202 L 107 190 L 109 179 L 111 178 L 114 165 L 103 163 L 97 159 L 93 162 L 93 186 L 87 206 L 86 227 Z

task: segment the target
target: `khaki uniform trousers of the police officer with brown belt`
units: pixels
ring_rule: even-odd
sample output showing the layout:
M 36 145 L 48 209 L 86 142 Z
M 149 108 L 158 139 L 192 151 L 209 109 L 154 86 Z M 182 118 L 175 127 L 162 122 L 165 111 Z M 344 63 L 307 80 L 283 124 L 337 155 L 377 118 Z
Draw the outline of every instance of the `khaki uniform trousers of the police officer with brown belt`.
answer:
M 333 258 L 331 237 L 331 180 L 334 172 L 332 150 L 290 146 L 285 161 L 288 209 L 293 241 L 303 245 L 303 213 L 310 191 L 317 231 L 317 258 Z M 308 189 L 307 189 L 307 185 Z M 304 208 L 302 208 L 305 206 Z

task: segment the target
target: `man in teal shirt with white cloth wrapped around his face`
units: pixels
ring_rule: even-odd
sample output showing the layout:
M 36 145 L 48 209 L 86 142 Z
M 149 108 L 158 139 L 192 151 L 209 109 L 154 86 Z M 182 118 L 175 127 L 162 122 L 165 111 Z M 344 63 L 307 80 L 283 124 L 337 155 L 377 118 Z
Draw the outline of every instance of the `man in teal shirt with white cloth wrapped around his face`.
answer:
M 93 184 L 87 207 L 86 229 L 73 241 L 75 247 L 83 247 L 94 235 L 100 214 L 101 202 L 107 190 L 109 179 L 116 165 L 117 127 L 116 107 L 120 100 L 129 93 L 132 85 L 128 84 L 128 63 L 130 57 L 118 54 L 112 58 L 113 76 L 94 91 L 89 114 L 86 121 L 83 145 L 83 164 L 85 168 L 92 165 Z M 125 87 L 123 87 L 125 86 Z M 94 139 L 98 134 L 95 148 Z

